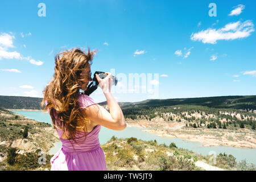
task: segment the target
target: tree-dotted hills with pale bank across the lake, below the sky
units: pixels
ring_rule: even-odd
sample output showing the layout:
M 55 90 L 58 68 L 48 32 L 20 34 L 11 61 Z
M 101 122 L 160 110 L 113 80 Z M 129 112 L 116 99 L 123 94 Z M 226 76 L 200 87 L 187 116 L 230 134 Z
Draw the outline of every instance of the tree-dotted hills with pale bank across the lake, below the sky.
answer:
M 7 102 L 7 96 L 1 98 L 5 102 L 0 103 Z M 8 104 L 16 109 L 31 109 L 32 102 L 35 108 L 40 108 L 41 100 L 11 97 Z M 129 126 L 148 128 L 144 131 L 160 137 L 185 138 L 204 146 L 256 148 L 255 100 L 256 96 L 223 96 L 119 102 L 119 105 Z M 108 109 L 106 102 L 99 104 Z

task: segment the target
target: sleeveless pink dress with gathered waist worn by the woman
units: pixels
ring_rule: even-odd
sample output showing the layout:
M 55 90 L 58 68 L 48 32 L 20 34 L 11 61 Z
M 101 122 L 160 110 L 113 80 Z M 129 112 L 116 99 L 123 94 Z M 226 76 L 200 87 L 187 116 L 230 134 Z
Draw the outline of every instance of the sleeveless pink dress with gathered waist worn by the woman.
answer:
M 77 100 L 80 107 L 88 107 L 96 104 L 89 96 L 79 94 Z M 47 104 L 47 103 L 46 103 Z M 106 160 L 104 152 L 100 146 L 98 133 L 101 125 L 87 133 L 86 140 L 84 133 L 77 131 L 76 141 L 73 146 L 69 139 L 62 139 L 63 130 L 56 129 L 62 147 L 51 158 L 51 171 L 104 171 L 106 170 Z M 73 149 L 75 148 L 75 151 Z

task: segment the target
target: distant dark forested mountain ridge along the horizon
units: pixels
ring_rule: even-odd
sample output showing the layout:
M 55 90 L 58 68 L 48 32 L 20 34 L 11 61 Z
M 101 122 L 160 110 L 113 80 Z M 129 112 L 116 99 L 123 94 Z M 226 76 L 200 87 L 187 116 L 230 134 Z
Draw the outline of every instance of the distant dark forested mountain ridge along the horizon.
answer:
M 43 98 L 0 96 L 0 107 L 3 109 L 42 109 Z M 107 102 L 100 102 L 107 105 Z M 118 102 L 122 109 L 129 107 L 160 107 L 174 105 L 200 105 L 214 108 L 256 110 L 256 96 L 218 96 L 198 98 L 152 99 L 140 102 Z

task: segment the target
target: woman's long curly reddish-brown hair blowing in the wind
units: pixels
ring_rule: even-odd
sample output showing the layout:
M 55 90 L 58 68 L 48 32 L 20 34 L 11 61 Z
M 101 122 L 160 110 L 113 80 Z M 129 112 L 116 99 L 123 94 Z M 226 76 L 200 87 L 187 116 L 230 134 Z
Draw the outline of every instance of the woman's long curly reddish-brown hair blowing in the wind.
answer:
M 58 53 L 55 56 L 55 73 L 43 91 L 41 105 L 44 106 L 47 102 L 44 111 L 49 111 L 53 127 L 64 130 L 71 143 L 76 142 L 75 135 L 79 128 L 84 131 L 86 139 L 86 123 L 89 123 L 89 119 L 79 110 L 77 97 L 85 79 L 81 77 L 81 73 L 90 67 L 95 53 L 96 51 L 90 52 L 89 48 L 86 53 L 79 48 Z M 56 122 L 57 120 L 60 122 Z

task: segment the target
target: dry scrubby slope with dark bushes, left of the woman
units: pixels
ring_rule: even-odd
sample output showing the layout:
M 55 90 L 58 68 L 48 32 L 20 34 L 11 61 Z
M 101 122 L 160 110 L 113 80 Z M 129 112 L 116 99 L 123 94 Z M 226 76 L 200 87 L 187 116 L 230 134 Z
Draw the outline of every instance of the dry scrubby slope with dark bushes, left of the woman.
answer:
M 48 151 L 57 141 L 57 133 L 48 123 L 0 109 L 0 170 L 40 168 L 38 155 L 42 153 L 39 152 L 46 154 L 49 159 Z M 10 160 L 10 155 L 16 159 Z M 15 162 L 16 167 L 8 166 L 7 161 Z

